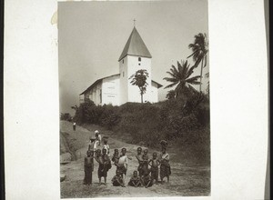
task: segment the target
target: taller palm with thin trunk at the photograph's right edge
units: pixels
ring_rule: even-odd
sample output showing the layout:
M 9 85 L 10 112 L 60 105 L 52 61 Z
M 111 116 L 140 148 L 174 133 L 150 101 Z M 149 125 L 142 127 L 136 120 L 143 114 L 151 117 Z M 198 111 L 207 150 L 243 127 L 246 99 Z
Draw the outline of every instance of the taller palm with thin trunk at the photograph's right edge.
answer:
M 195 35 L 195 41 L 193 44 L 189 44 L 188 48 L 191 48 L 192 54 L 188 55 L 187 58 L 193 57 L 195 62 L 195 66 L 197 67 L 201 63 L 201 70 L 200 70 L 200 92 L 201 92 L 201 85 L 202 85 L 202 73 L 203 68 L 207 65 L 207 35 L 199 33 Z

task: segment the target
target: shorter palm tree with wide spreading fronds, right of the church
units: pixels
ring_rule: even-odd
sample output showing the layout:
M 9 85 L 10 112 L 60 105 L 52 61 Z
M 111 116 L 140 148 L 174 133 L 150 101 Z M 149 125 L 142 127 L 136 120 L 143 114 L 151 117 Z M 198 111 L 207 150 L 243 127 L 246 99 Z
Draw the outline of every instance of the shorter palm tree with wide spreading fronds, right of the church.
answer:
M 195 67 L 196 67 L 195 65 L 189 67 L 187 61 L 182 61 L 181 64 L 177 61 L 177 68 L 176 66 L 172 65 L 170 68 L 170 72 L 167 72 L 167 74 L 171 75 L 171 77 L 163 78 L 168 82 L 172 82 L 172 84 L 167 85 L 165 88 L 170 88 L 177 85 L 175 89 L 176 97 L 178 95 L 181 95 L 186 88 L 190 90 L 195 90 L 192 85 L 200 84 L 200 82 L 197 81 L 200 75 L 190 77 L 190 75 L 193 74 L 194 72 L 193 70 Z

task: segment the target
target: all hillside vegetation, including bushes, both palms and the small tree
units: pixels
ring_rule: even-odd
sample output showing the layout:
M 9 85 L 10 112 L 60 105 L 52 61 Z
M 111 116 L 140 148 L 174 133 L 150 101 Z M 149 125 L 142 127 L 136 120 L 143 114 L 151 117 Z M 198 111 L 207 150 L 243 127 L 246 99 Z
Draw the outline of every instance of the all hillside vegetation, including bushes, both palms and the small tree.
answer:
M 199 146 L 201 152 L 209 155 L 209 95 L 201 92 L 200 85 L 202 69 L 207 65 L 206 35 L 195 35 L 195 42 L 189 47 L 193 54 L 188 57 L 193 56 L 196 63 L 190 66 L 186 60 L 177 62 L 177 67 L 171 66 L 167 72 L 170 77 L 164 78 L 171 83 L 165 88 L 176 87 L 168 91 L 167 101 L 143 104 L 148 74 L 147 70 L 138 70 L 129 79 L 132 85 L 139 87 L 142 104 L 95 105 L 89 100 L 71 107 L 76 110 L 74 120 L 79 125 L 101 125 L 115 133 L 130 135 L 133 144 L 156 147 L 161 139 L 169 142 L 178 140 L 188 148 Z M 200 75 L 192 76 L 200 63 Z M 200 85 L 200 91 L 193 85 Z

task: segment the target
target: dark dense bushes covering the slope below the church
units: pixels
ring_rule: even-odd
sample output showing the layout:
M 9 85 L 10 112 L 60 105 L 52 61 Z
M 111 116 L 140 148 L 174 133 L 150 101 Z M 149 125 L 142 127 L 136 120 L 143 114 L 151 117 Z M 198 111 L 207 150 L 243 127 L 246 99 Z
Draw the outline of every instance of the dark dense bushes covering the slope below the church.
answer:
M 75 118 L 79 124 L 102 125 L 131 135 L 134 144 L 155 147 L 161 139 L 176 138 L 192 144 L 204 137 L 198 130 L 209 125 L 209 103 L 200 94 L 188 98 L 181 95 L 157 104 L 102 106 L 88 102 L 78 107 Z

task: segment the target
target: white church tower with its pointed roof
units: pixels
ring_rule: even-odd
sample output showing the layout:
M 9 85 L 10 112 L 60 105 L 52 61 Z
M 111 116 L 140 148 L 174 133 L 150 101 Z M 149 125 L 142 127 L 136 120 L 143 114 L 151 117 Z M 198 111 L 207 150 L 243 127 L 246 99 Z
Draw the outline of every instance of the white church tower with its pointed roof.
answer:
M 152 96 L 152 75 L 151 75 L 151 58 L 152 55 L 147 49 L 141 36 L 138 34 L 134 26 L 131 35 L 129 36 L 126 45 L 119 56 L 119 73 L 120 73 L 120 90 L 119 100 L 120 105 L 126 102 L 141 102 L 140 90 L 136 85 L 131 85 L 129 77 L 134 75 L 139 69 L 146 69 L 147 91 L 143 95 L 143 102 L 151 102 Z

